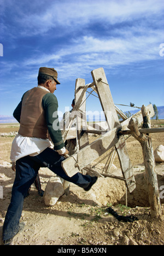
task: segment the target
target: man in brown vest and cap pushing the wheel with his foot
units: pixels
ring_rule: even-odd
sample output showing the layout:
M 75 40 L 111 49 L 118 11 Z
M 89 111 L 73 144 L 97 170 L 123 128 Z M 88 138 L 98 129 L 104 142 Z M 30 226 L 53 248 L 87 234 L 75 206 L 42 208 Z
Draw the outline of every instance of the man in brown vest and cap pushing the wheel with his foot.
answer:
M 14 236 L 24 228 L 20 223 L 24 198 L 36 180 L 40 167 L 48 167 L 57 176 L 85 191 L 90 190 L 97 181 L 97 177 L 81 173 L 70 178 L 61 167 L 61 162 L 65 160 L 63 156 L 68 154 L 68 150 L 58 124 L 58 102 L 54 95 L 57 84 L 60 83 L 54 68 L 40 68 L 38 87 L 25 92 L 14 110 L 13 115 L 19 121 L 20 129 L 11 147 L 10 158 L 16 162 L 16 175 L 3 225 L 3 245 L 11 245 Z

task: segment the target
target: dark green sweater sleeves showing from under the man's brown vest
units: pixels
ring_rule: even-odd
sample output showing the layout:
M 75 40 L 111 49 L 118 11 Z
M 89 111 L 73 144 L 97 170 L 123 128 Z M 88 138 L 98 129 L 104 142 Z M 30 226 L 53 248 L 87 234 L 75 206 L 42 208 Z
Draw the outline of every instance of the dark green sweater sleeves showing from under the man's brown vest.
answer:
M 19 123 L 21 116 L 22 100 L 24 98 L 24 95 L 22 96 L 21 102 L 17 105 L 13 113 L 14 118 Z M 63 142 L 61 130 L 59 127 L 57 115 L 58 102 L 56 96 L 51 93 L 44 95 L 42 99 L 42 106 L 45 112 L 46 125 L 48 126 L 49 135 L 52 139 L 52 142 L 54 143 L 54 149 L 61 149 L 65 146 L 65 144 Z

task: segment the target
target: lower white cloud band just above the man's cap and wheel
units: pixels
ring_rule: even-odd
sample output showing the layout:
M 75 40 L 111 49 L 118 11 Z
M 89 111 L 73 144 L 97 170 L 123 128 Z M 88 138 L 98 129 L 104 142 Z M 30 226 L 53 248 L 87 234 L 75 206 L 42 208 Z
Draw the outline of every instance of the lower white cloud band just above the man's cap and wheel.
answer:
M 161 31 L 149 31 L 145 35 L 135 36 L 133 31 L 115 38 L 80 37 L 59 51 L 52 50 L 42 57 L 33 57 L 25 65 L 42 65 L 57 63 L 63 66 L 104 66 L 127 65 L 129 63 L 159 59 L 159 45 L 162 42 Z M 59 62 L 59 63 L 58 63 Z M 72 68 L 74 72 L 74 69 Z

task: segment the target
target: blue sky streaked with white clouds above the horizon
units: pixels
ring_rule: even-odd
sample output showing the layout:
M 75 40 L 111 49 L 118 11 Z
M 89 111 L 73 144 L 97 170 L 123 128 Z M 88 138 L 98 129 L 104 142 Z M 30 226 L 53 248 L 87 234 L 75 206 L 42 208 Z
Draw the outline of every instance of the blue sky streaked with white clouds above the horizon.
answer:
M 115 104 L 164 105 L 163 0 L 0 0 L 0 15 L 0 115 L 12 115 L 37 85 L 39 67 L 58 72 L 61 112 L 71 108 L 75 80 L 91 83 L 99 67 Z M 86 106 L 101 110 L 93 96 Z

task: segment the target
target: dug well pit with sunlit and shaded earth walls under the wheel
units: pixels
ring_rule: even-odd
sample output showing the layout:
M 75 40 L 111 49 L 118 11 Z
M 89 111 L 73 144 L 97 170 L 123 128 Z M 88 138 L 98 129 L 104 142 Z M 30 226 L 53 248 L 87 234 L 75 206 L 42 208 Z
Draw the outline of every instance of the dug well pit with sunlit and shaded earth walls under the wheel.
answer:
M 157 175 L 159 188 L 163 184 L 164 177 Z M 145 182 L 144 173 L 135 175 L 136 189 L 132 193 L 127 190 L 127 206 L 134 208 L 150 207 L 147 183 Z M 124 181 L 112 178 L 98 178 L 96 185 L 90 191 L 90 198 L 97 202 L 98 205 L 126 205 L 126 185 Z M 164 199 L 161 199 L 164 203 Z

